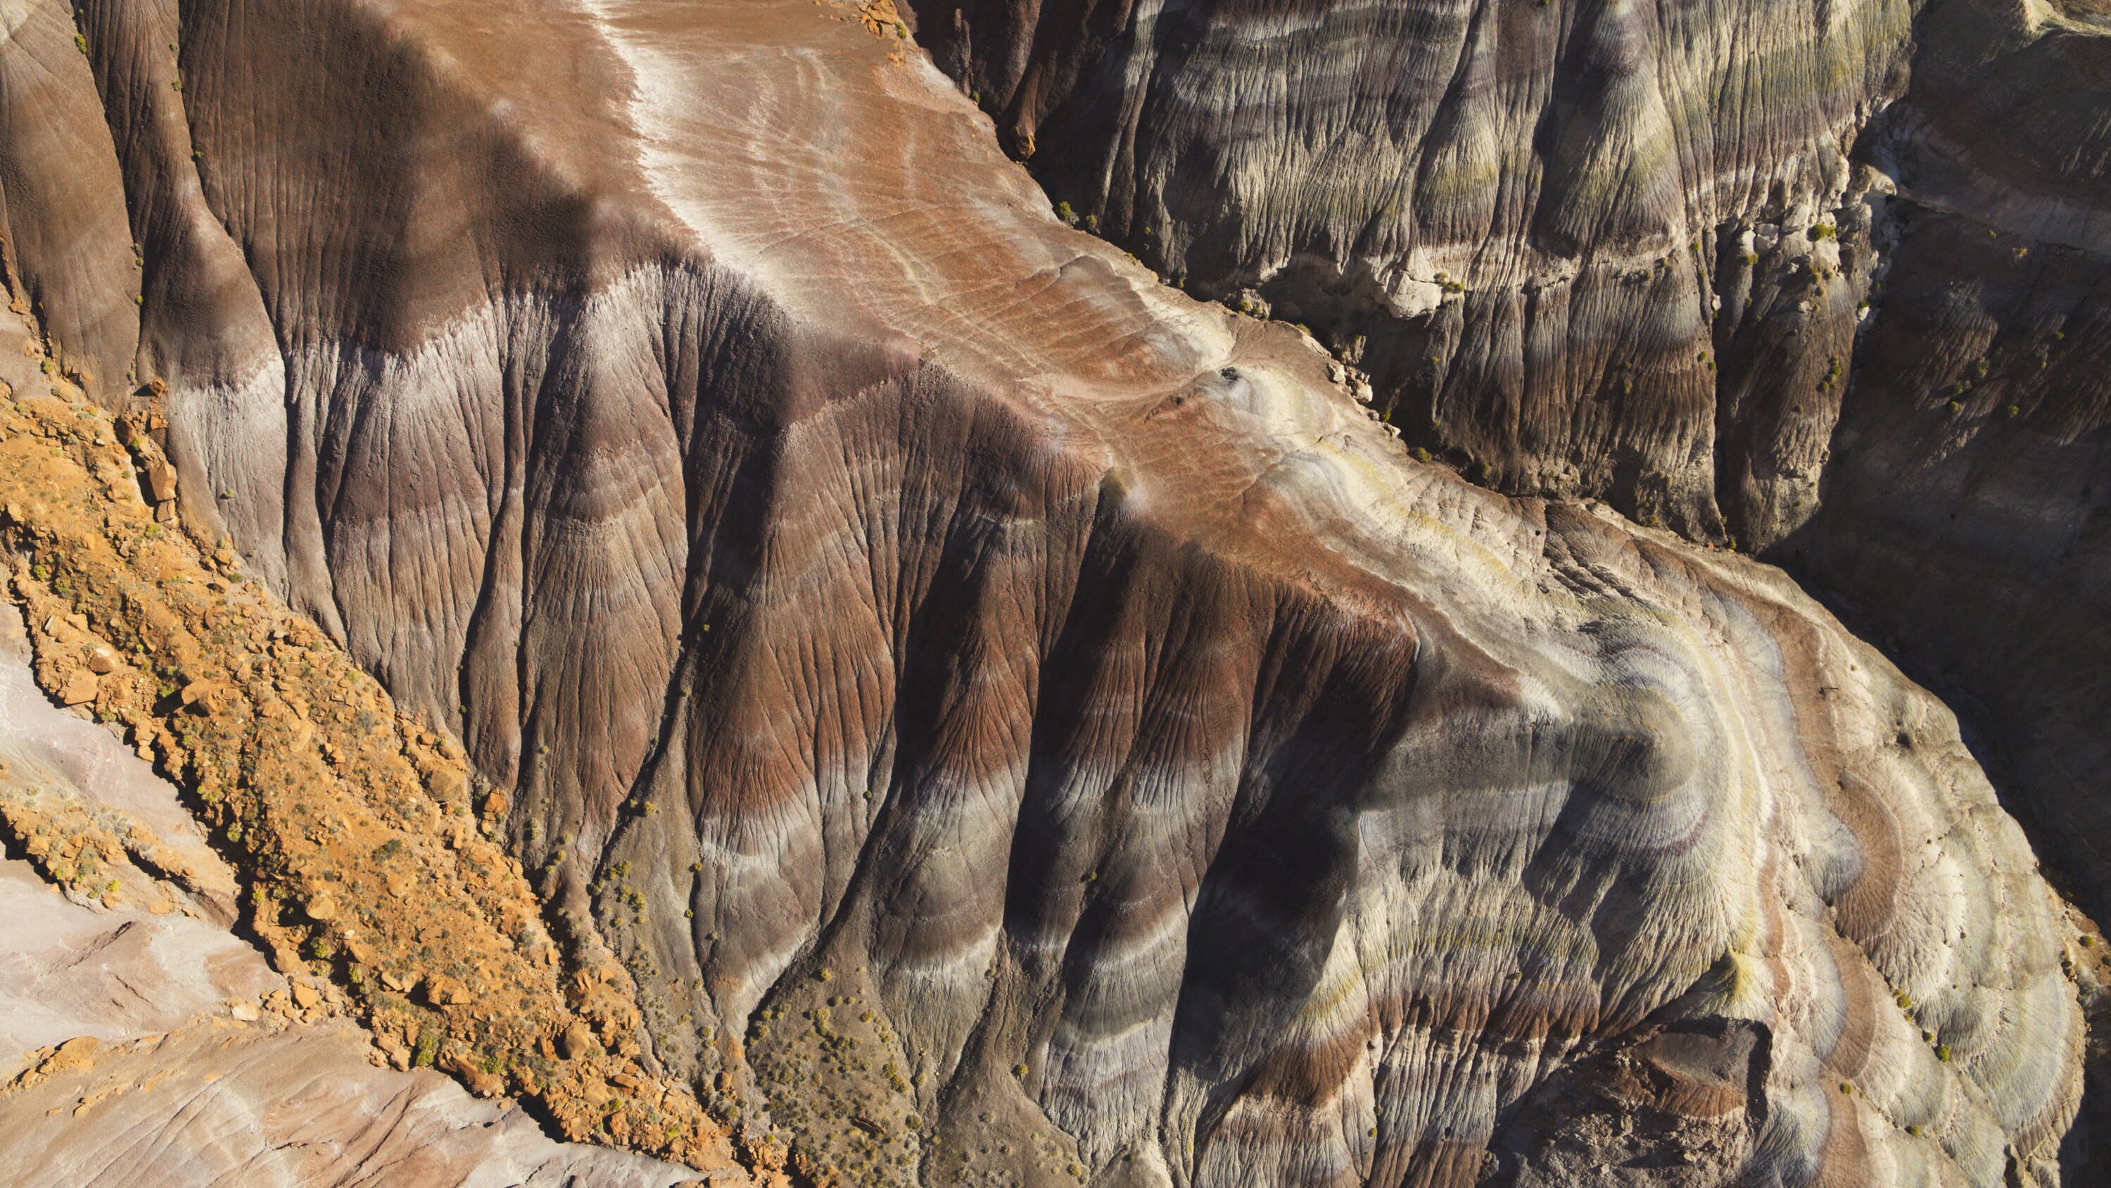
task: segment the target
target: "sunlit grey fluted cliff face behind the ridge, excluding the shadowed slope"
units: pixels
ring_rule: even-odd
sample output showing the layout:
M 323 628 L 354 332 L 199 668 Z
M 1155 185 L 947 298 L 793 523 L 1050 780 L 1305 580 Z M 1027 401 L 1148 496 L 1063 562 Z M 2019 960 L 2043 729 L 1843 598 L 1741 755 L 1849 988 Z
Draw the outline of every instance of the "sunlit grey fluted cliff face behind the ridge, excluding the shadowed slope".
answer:
M 1908 4 L 916 13 L 1053 198 L 1359 355 L 1410 443 L 1687 536 L 1809 517 Z

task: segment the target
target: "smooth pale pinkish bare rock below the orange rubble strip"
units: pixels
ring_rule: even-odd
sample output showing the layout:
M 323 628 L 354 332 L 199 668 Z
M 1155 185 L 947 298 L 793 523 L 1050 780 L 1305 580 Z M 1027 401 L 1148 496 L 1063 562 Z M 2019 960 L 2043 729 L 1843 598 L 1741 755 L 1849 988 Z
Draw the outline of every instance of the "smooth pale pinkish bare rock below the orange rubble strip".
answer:
M 177 789 L 108 730 L 51 705 L 30 665 L 8 603 L 0 1165 L 15 1182 L 695 1182 L 686 1167 L 553 1144 L 517 1108 L 477 1101 L 435 1070 L 378 1068 L 329 998 L 272 973 L 228 931 L 236 876 Z M 89 821 L 122 838 L 114 852 L 72 850 L 101 840 L 80 827 Z

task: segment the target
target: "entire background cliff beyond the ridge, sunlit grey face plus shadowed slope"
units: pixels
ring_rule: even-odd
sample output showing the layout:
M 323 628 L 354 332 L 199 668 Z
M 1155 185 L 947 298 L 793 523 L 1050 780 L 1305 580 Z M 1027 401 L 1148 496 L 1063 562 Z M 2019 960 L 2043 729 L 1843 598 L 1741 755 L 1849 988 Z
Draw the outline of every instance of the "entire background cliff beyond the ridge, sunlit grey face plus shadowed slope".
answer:
M 1421 445 L 1805 574 L 2100 897 L 2100 6 L 916 4 L 1053 198 Z

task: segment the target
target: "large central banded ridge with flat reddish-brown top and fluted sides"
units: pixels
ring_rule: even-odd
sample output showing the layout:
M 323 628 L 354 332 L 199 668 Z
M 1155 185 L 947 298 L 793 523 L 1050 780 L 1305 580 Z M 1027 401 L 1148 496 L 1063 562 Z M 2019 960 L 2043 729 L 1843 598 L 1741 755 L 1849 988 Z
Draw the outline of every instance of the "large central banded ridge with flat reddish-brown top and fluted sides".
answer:
M 859 1184 L 2058 1175 L 2094 952 L 1936 698 L 1414 462 L 874 13 L 80 27 L 188 515 L 718 1108 Z

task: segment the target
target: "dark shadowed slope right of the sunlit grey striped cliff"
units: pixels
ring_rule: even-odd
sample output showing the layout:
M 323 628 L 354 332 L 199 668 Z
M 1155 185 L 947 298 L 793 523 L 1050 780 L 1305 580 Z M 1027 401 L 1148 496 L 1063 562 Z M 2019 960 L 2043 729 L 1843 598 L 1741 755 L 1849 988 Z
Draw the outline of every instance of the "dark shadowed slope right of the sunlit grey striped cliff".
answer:
M 2111 25 L 1929 8 L 1872 137 L 1902 203 L 1824 509 L 1780 553 L 1972 707 L 2050 857 L 2105 903 Z

